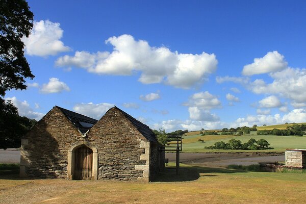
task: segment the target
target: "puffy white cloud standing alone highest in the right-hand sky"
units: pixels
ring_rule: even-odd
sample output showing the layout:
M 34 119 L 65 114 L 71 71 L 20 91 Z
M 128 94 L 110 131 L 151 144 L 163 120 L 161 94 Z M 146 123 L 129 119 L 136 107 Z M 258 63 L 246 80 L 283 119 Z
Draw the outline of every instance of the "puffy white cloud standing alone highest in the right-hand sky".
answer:
M 252 64 L 245 65 L 242 70 L 243 75 L 253 75 L 281 71 L 287 68 L 288 63 L 284 56 L 277 51 L 268 52 L 262 58 L 255 58 Z

